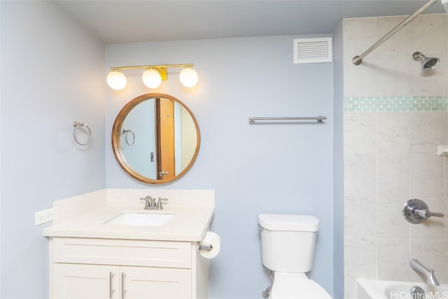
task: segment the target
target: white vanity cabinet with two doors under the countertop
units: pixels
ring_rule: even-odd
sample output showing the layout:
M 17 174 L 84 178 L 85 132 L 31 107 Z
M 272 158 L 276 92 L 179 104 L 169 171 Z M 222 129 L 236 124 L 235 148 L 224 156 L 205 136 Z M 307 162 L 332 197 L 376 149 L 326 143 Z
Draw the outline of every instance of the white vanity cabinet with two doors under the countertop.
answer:
M 50 238 L 51 298 L 208 298 L 195 242 Z

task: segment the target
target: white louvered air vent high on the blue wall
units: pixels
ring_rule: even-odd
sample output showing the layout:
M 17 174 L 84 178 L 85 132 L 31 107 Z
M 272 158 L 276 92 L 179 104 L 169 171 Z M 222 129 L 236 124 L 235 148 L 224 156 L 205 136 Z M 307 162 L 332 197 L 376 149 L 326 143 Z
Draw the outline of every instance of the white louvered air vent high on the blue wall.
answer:
M 332 62 L 332 38 L 294 39 L 294 63 Z

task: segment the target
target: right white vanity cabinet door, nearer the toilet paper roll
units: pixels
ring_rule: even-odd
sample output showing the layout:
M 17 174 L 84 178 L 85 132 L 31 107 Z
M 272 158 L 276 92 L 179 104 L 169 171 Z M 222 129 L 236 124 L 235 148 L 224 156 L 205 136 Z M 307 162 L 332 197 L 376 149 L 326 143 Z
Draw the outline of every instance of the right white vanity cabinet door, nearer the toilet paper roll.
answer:
M 190 269 L 120 267 L 123 299 L 192 298 Z

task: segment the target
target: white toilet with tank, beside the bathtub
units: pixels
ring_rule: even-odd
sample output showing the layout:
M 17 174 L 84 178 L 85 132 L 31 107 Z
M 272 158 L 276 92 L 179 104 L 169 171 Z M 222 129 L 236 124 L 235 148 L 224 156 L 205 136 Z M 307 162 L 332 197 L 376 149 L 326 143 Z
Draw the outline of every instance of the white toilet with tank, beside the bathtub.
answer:
M 331 296 L 305 274 L 313 267 L 318 218 L 260 214 L 262 263 L 274 272 L 271 299 L 328 299 Z

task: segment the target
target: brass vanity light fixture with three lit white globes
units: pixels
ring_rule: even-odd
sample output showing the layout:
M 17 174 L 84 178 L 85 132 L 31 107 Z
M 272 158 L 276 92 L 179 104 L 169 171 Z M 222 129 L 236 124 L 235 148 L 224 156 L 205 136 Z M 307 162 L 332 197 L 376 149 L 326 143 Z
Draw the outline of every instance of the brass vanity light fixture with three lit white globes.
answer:
M 148 88 L 158 88 L 162 81 L 167 80 L 167 69 L 169 67 L 183 67 L 179 74 L 181 84 L 186 88 L 193 88 L 197 84 L 197 71 L 193 69 L 194 64 L 160 64 L 141 65 L 135 67 L 111 67 L 107 75 L 107 84 L 114 90 L 122 90 L 126 87 L 127 79 L 121 71 L 126 69 L 145 69 L 141 79 Z

